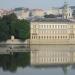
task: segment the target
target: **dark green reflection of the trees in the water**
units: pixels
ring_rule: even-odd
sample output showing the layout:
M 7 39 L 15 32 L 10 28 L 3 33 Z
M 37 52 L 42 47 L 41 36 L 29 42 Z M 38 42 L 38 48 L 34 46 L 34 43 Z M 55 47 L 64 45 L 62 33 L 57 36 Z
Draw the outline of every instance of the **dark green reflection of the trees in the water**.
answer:
M 18 67 L 26 67 L 30 64 L 30 53 L 13 53 L 13 55 L 2 54 L 0 55 L 0 67 L 4 71 L 16 72 Z

